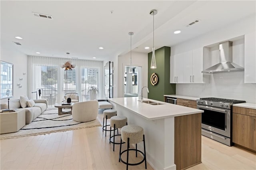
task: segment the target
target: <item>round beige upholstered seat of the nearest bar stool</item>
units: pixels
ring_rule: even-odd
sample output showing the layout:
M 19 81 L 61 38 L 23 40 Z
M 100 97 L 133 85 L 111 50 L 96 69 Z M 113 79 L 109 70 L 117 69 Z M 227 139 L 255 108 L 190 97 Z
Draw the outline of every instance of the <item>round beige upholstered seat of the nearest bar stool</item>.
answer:
M 130 144 L 136 144 L 143 141 L 143 128 L 138 125 L 126 125 L 121 129 L 121 138 L 127 142 L 129 138 Z

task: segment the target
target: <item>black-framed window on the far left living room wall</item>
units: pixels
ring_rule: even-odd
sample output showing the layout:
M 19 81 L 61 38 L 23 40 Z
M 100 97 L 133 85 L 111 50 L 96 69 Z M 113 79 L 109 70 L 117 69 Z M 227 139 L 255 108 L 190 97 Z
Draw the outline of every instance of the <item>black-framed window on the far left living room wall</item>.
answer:
M 13 96 L 13 64 L 1 61 L 1 99 Z

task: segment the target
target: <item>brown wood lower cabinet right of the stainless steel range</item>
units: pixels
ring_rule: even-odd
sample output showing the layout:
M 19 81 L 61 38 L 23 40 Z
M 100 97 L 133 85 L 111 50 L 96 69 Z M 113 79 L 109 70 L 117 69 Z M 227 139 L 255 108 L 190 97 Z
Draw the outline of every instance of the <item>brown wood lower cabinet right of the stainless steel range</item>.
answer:
M 233 107 L 232 142 L 256 151 L 256 109 Z

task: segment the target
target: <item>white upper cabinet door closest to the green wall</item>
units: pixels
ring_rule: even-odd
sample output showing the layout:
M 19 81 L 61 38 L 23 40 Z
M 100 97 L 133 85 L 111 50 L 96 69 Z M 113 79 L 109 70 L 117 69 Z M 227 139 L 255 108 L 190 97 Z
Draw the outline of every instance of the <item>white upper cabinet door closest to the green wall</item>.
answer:
M 170 83 L 182 83 L 183 81 L 183 54 L 170 57 Z

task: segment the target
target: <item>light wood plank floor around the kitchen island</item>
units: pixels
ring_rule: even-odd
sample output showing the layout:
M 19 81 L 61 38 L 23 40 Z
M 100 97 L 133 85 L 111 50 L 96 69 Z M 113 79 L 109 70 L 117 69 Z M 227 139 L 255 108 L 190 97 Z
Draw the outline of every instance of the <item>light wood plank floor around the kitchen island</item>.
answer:
M 0 140 L 0 169 L 126 169 L 118 162 L 119 146 L 116 145 L 113 152 L 108 138 L 108 133 L 107 137 L 102 133 L 102 127 L 94 127 Z M 144 164 L 129 166 L 129 170 L 139 169 L 144 169 Z M 189 169 L 256 170 L 256 154 L 202 136 L 202 164 Z

